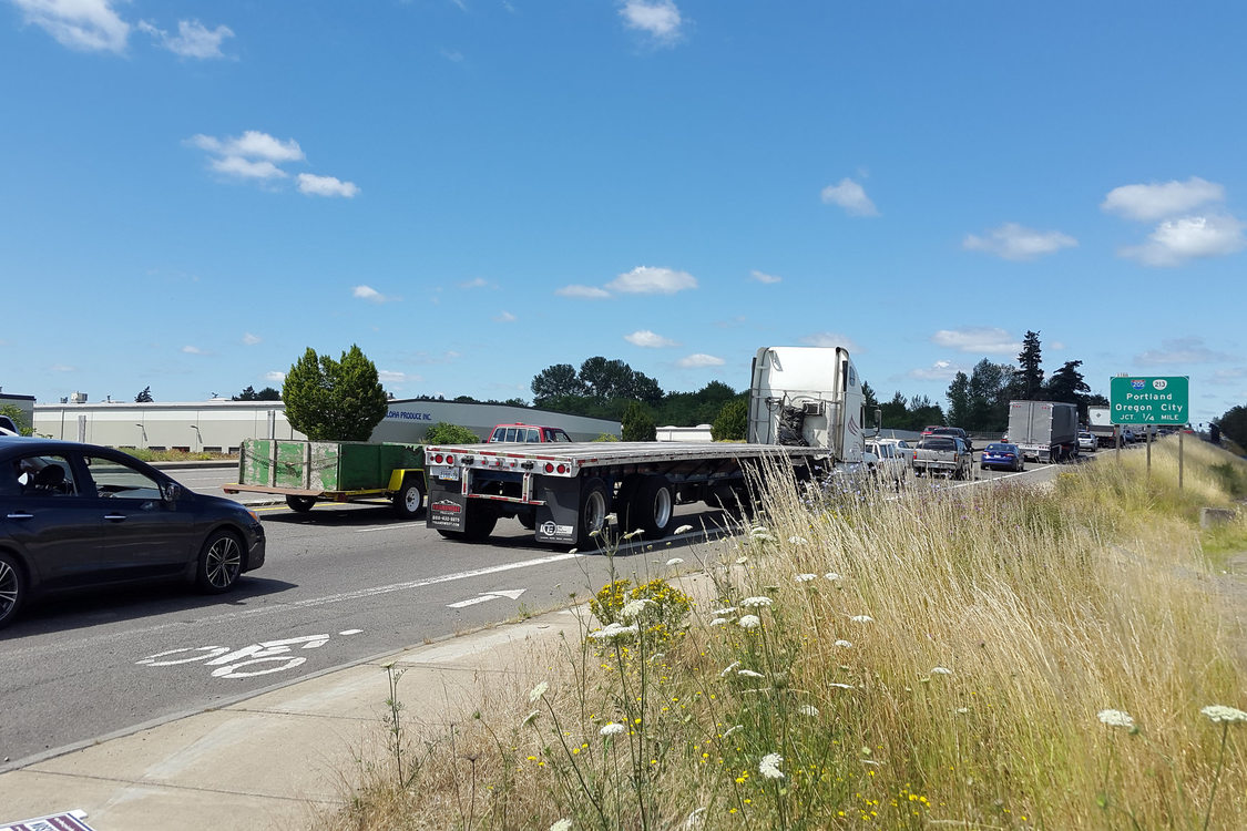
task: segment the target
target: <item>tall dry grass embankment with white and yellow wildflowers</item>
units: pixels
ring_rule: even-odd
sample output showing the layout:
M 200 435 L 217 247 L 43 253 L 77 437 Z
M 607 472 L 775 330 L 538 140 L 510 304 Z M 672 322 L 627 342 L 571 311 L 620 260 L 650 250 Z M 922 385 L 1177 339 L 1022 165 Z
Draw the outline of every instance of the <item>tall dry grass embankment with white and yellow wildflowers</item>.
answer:
M 1188 441 L 1178 491 L 1176 449 L 1050 488 L 774 483 L 764 531 L 680 552 L 718 593 L 687 628 L 641 592 L 635 634 L 535 655 L 449 729 L 395 709 L 317 827 L 1247 827 L 1247 724 L 1201 713 L 1247 709 L 1247 520 L 1198 525 L 1247 463 Z

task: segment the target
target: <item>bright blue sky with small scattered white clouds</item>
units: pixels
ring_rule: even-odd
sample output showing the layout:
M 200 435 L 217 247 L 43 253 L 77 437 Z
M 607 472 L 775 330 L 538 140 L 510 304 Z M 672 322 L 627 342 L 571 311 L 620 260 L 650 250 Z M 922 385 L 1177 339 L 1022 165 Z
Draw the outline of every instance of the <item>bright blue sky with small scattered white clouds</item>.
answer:
M 399 397 L 843 344 L 1247 402 L 1247 5 L 0 0 L 0 385 Z

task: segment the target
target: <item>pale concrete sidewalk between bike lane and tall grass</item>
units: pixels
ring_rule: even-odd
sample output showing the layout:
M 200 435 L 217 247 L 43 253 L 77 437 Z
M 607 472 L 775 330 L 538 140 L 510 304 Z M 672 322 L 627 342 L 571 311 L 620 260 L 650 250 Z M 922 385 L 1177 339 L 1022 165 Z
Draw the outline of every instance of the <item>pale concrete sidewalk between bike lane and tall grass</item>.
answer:
M 398 690 L 414 735 L 495 684 L 531 683 L 535 654 L 560 634 L 580 639 L 579 613 L 414 647 L 0 774 L 0 827 L 74 809 L 96 831 L 307 827 L 313 810 L 342 802 L 360 751 L 385 746 L 387 663 L 405 670 Z

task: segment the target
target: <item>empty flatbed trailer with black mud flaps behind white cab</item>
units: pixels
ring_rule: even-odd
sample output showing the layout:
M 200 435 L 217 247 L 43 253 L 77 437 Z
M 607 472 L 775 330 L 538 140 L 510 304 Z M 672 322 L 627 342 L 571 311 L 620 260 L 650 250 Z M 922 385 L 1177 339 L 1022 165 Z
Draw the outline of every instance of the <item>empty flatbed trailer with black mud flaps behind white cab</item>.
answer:
M 826 447 L 734 442 L 431 445 L 426 523 L 445 537 L 481 541 L 515 517 L 555 544 L 595 544 L 616 513 L 621 532 L 661 539 L 675 506 L 748 507 L 751 483 L 772 466 L 804 481 L 829 465 Z

